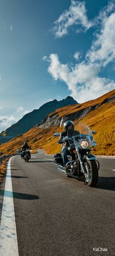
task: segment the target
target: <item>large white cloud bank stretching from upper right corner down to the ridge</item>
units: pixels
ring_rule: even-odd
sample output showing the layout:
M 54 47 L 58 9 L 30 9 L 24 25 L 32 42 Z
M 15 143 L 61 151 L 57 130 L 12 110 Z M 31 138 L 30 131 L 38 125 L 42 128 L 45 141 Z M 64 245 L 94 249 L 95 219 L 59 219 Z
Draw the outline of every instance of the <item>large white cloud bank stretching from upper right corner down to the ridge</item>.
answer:
M 73 4 L 73 3 L 72 3 Z M 83 4 L 83 3 L 82 3 Z M 81 103 L 95 99 L 115 89 L 115 83 L 99 72 L 110 62 L 115 61 L 115 4 L 111 3 L 99 13 L 96 20 L 100 22 L 100 30 L 95 34 L 91 48 L 86 52 L 84 61 L 75 65 L 62 64 L 57 54 L 50 54 L 48 72 L 54 80 L 68 85 L 71 96 Z M 74 55 L 79 60 L 79 52 Z

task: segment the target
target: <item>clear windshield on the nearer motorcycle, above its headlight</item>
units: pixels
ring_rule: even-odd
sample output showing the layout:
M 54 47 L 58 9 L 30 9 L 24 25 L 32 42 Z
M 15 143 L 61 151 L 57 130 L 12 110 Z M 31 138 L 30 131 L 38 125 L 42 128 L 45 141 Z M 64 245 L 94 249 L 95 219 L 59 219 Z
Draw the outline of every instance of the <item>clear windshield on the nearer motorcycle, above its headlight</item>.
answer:
M 71 148 L 75 148 L 75 144 L 81 139 L 89 139 L 90 136 L 93 139 L 92 131 L 84 124 L 78 122 L 75 127 L 71 125 L 67 131 L 68 141 Z

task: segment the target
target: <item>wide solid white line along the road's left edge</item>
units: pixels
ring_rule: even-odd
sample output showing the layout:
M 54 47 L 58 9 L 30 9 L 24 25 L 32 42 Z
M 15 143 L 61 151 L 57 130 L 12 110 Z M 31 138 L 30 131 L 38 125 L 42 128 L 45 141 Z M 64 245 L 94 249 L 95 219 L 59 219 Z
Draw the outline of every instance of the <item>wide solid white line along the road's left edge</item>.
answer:
M 0 256 L 19 256 L 17 231 L 14 212 L 14 201 L 11 179 L 11 162 L 8 162 L 3 207 L 0 224 Z

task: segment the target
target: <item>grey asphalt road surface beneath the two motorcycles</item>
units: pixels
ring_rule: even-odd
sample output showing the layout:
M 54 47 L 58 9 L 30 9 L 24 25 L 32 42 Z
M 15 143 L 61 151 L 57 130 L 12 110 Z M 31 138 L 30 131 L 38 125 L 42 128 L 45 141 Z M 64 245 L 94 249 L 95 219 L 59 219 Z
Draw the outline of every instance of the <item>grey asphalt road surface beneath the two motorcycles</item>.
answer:
M 115 256 L 115 159 L 99 159 L 95 188 L 65 176 L 52 159 L 11 160 L 19 256 Z

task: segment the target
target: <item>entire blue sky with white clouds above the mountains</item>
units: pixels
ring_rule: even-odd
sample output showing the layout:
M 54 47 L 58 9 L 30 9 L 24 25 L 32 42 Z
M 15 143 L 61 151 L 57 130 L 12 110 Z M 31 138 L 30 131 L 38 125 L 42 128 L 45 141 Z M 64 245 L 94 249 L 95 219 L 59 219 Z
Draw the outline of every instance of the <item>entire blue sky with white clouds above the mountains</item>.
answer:
M 0 0 L 0 131 L 68 95 L 115 88 L 115 1 Z

